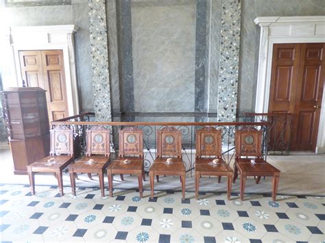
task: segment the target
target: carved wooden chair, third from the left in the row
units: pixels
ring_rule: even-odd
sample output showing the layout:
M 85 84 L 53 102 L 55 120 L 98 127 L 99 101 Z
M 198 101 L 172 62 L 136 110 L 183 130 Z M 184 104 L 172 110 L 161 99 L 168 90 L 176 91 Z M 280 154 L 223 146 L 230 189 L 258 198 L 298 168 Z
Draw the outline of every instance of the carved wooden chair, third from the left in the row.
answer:
M 139 179 L 139 192 L 143 196 L 143 131 L 136 127 L 125 127 L 119 131 L 119 157 L 107 168 L 108 187 L 113 196 L 114 174 L 136 174 Z M 123 180 L 123 177 L 121 177 Z M 143 181 L 142 181 L 143 179 Z

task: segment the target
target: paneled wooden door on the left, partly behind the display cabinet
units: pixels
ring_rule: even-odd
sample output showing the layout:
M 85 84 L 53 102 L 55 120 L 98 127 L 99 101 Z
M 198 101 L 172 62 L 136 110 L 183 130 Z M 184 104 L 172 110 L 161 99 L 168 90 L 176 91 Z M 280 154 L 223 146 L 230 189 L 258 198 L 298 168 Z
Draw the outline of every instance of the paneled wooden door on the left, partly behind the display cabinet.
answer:
M 67 88 L 62 50 L 19 51 L 21 76 L 27 87 L 45 90 L 49 121 L 67 117 Z

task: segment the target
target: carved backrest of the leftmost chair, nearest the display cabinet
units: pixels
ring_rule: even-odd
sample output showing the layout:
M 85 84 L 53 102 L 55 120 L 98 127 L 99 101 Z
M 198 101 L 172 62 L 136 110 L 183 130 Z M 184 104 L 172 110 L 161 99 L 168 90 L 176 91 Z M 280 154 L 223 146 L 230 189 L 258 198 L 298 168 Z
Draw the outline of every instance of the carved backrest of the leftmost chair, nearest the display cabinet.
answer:
M 50 130 L 50 155 L 66 154 L 73 156 L 73 130 L 60 125 Z

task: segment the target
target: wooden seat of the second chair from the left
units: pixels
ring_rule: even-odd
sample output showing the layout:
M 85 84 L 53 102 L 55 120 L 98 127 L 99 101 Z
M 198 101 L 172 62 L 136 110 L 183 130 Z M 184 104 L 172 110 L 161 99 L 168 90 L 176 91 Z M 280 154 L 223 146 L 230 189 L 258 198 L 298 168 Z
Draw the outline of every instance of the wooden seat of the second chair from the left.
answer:
M 88 164 L 88 161 L 93 159 L 92 164 Z M 91 155 L 84 156 L 73 164 L 68 166 L 69 172 L 95 172 L 96 170 L 102 170 L 106 168 L 107 164 L 110 162 L 110 157 L 104 155 Z

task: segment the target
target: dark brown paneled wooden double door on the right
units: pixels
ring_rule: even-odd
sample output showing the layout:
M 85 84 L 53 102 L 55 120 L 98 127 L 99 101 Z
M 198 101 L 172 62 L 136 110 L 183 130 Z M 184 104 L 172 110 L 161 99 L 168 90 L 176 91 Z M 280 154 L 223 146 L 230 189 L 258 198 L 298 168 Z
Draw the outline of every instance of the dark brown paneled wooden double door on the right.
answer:
M 274 44 L 269 112 L 293 114 L 292 151 L 315 151 L 324 88 L 324 47 L 324 43 Z

